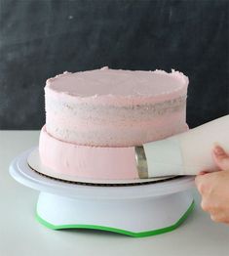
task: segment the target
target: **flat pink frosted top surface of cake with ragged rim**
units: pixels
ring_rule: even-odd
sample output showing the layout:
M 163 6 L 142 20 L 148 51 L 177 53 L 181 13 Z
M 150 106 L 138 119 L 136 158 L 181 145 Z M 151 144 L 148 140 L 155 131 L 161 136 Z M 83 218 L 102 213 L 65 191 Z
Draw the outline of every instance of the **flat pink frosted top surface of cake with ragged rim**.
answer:
M 48 79 L 45 90 L 58 96 L 77 97 L 78 100 L 115 98 L 127 101 L 130 98 L 167 98 L 171 94 L 185 92 L 187 86 L 188 77 L 173 69 L 168 73 L 163 70 L 131 71 L 104 66 L 90 71 L 64 72 Z

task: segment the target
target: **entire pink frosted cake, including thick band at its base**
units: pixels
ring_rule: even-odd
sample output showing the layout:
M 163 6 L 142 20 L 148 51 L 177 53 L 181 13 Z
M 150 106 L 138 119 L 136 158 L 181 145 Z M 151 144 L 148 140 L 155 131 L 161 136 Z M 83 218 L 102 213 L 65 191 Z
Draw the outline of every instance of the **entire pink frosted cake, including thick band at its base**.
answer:
M 187 86 L 174 70 L 102 67 L 48 79 L 42 163 L 72 177 L 139 178 L 134 146 L 187 129 Z

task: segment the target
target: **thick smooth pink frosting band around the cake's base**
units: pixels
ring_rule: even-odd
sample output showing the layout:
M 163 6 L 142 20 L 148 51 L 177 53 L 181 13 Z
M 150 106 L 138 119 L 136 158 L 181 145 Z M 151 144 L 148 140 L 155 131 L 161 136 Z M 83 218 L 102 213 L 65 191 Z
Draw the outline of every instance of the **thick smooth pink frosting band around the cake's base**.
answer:
M 61 142 L 46 131 L 40 133 L 42 163 L 55 173 L 88 179 L 136 179 L 134 148 L 96 148 Z

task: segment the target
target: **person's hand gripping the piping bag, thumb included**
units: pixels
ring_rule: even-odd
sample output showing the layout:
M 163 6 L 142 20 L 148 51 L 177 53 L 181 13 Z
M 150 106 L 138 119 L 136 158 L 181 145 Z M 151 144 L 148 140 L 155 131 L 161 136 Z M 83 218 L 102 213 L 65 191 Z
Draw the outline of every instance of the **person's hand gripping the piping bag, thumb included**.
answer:
M 212 157 L 220 171 L 201 172 L 195 183 L 202 195 L 201 206 L 214 222 L 229 224 L 229 154 L 216 146 Z

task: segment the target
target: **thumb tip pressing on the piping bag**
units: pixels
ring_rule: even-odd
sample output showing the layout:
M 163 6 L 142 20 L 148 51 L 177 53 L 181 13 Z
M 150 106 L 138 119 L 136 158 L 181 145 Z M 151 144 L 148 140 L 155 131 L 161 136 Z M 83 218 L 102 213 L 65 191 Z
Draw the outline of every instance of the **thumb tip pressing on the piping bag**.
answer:
M 220 146 L 215 146 L 212 150 L 212 157 L 220 170 L 229 170 L 229 154 L 227 154 L 224 149 Z

